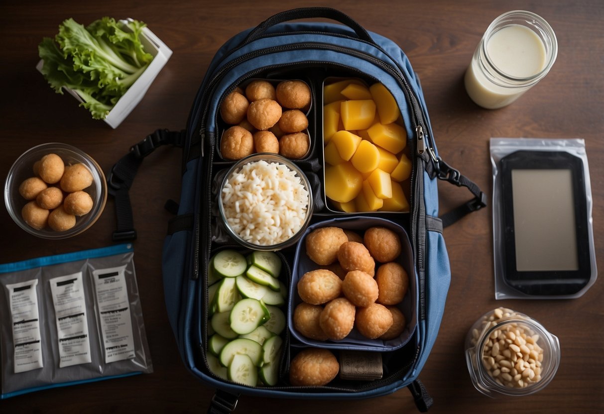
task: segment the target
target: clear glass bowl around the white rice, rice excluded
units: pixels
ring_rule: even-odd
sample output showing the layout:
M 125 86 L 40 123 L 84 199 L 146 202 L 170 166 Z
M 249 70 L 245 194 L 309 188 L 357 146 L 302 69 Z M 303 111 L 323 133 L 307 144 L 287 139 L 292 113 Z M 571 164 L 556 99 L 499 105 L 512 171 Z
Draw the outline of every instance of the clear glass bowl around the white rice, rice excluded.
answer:
M 228 223 L 229 217 L 226 217 L 225 205 L 223 204 L 223 189 L 225 188 L 226 183 L 230 179 L 231 174 L 233 174 L 234 172 L 240 171 L 241 168 L 246 164 L 251 164 L 251 163 L 259 162 L 259 161 L 266 161 L 269 164 L 271 164 L 272 162 L 277 162 L 278 164 L 282 164 L 282 165 L 286 166 L 287 168 L 289 168 L 289 170 L 294 171 L 296 176 L 300 177 L 301 183 L 304 186 L 304 189 L 306 189 L 306 192 L 308 194 L 306 215 L 303 218 L 303 220 L 301 221 L 301 227 L 299 229 L 297 229 L 297 231 L 295 231 L 295 233 L 292 234 L 291 237 L 289 237 L 287 240 L 279 241 L 278 243 L 274 243 L 274 244 L 255 244 L 255 243 L 252 243 L 251 241 L 245 240 L 245 238 L 243 238 L 240 234 L 238 234 L 229 225 L 229 223 Z M 300 237 L 302 236 L 302 234 L 304 233 L 306 228 L 308 227 L 308 225 L 310 223 L 310 218 L 312 217 L 312 209 L 313 209 L 312 188 L 310 188 L 310 182 L 309 182 L 308 178 L 306 177 L 306 174 L 304 174 L 304 172 L 302 170 L 300 170 L 300 168 L 291 160 L 284 158 L 283 156 L 280 156 L 277 154 L 257 153 L 257 154 L 252 154 L 250 156 L 247 156 L 246 158 L 240 159 L 235 164 L 233 164 L 233 166 L 231 166 L 231 168 L 226 172 L 226 174 L 222 180 L 222 183 L 220 184 L 218 205 L 219 205 L 219 212 L 220 212 L 220 218 L 222 221 L 222 225 L 226 229 L 226 232 L 228 232 L 228 234 L 235 241 L 237 241 L 237 243 L 241 244 L 243 247 L 247 247 L 248 249 L 254 249 L 254 250 L 264 250 L 264 251 L 281 250 L 286 247 L 292 246 L 292 244 L 296 243 L 300 239 Z M 283 224 L 281 224 L 281 226 L 283 226 Z M 262 231 L 262 228 L 263 228 L 262 226 L 259 226 L 258 230 Z

